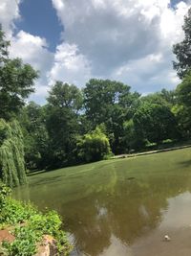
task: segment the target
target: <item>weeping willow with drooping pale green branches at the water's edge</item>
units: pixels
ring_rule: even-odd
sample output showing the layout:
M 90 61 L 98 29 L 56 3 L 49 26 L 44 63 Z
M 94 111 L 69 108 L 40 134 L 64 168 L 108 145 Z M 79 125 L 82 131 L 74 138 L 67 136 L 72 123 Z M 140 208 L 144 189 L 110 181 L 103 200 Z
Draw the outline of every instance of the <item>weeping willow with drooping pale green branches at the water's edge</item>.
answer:
M 17 121 L 0 119 L 0 177 L 13 187 L 27 182 L 23 135 Z

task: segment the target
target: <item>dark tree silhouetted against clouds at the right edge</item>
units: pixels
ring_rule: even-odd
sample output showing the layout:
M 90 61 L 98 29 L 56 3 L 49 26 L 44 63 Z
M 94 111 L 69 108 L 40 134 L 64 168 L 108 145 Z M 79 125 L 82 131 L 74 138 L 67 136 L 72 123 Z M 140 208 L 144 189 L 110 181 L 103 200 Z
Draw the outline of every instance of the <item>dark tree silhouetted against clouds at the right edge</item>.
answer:
M 184 39 L 173 46 L 173 53 L 176 55 L 178 61 L 173 62 L 174 69 L 182 79 L 191 68 L 191 9 L 188 10 L 184 17 L 184 24 L 182 26 L 184 32 Z

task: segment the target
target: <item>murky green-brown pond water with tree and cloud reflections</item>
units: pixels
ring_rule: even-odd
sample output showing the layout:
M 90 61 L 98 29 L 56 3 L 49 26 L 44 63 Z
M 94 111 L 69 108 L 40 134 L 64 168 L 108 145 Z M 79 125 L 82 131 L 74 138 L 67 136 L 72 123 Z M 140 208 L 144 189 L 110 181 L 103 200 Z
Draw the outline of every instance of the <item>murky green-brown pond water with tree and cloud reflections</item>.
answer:
M 191 149 L 32 175 L 14 195 L 59 212 L 73 256 L 191 255 Z

